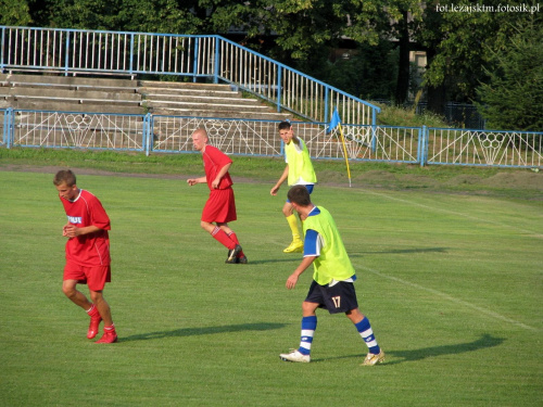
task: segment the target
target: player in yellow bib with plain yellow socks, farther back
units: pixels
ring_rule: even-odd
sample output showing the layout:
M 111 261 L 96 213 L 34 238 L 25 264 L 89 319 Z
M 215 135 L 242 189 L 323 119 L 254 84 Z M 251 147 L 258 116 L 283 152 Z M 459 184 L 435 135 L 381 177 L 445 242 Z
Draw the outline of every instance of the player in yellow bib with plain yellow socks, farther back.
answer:
M 277 191 L 279 191 L 281 183 L 287 180 L 289 187 L 304 186 L 311 194 L 313 192 L 313 187 L 317 182 L 317 176 L 313 169 L 307 147 L 301 138 L 294 135 L 292 125 L 289 122 L 281 122 L 279 124 L 279 136 L 285 142 L 285 161 L 287 162 L 287 167 L 269 193 L 272 195 L 277 195 Z M 285 203 L 282 213 L 292 232 L 292 242 L 283 252 L 302 253 L 304 243 L 298 226 L 296 216 L 294 215 L 294 211 L 289 200 Z

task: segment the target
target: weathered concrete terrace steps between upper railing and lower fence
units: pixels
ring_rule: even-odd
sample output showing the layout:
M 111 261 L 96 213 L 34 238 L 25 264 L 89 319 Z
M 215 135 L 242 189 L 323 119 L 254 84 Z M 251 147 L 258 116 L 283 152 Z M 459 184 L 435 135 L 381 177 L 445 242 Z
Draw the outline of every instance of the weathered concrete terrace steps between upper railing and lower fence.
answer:
M 264 120 L 291 117 L 257 99 L 243 98 L 229 85 L 26 74 L 0 74 L 2 107 Z

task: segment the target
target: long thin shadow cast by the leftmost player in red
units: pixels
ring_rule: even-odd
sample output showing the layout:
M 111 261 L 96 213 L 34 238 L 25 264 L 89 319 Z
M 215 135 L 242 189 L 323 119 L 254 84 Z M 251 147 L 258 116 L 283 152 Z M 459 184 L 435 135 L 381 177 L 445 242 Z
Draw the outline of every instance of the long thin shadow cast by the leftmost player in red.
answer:
M 223 327 L 205 327 L 205 328 L 181 328 L 173 331 L 157 331 L 139 333 L 130 336 L 119 338 L 118 342 L 129 341 L 149 341 L 173 336 L 193 336 L 193 335 L 211 335 L 215 333 L 242 332 L 242 331 L 268 331 L 286 327 L 287 323 L 240 323 L 227 325 Z

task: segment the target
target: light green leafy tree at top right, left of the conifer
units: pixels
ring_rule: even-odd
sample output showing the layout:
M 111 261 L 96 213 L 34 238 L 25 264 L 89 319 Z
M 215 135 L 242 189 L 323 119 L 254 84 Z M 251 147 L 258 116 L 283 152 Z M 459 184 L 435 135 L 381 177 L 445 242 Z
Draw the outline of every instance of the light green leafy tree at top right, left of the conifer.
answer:
M 509 1 L 507 7 L 526 3 Z M 442 114 L 445 101 L 476 101 L 476 89 L 489 80 L 484 66 L 491 54 L 506 50 L 513 25 L 530 18 L 529 12 L 507 12 L 501 0 L 488 0 L 484 8 L 467 1 L 441 5 L 426 0 L 414 39 L 427 52 L 429 110 Z

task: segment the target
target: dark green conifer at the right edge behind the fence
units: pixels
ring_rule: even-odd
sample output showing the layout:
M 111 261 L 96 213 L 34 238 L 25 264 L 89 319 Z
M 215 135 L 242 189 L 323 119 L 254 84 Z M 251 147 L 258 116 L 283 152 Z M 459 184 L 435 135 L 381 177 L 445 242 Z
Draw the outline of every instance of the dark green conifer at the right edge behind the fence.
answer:
M 489 50 L 477 105 L 489 128 L 543 131 L 543 25 L 533 18 L 515 30 L 507 48 Z

